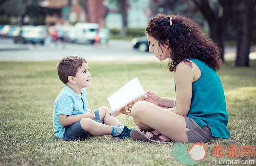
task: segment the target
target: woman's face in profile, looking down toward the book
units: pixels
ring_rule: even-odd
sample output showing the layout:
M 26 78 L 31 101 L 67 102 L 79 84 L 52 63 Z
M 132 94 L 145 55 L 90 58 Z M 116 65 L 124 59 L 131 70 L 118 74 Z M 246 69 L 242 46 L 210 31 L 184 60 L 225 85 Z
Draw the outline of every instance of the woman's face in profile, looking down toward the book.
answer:
M 160 48 L 158 45 L 159 42 L 148 34 L 147 40 L 149 42 L 149 52 L 153 52 L 153 54 L 156 55 L 155 57 L 157 57 L 160 61 L 170 58 L 171 48 L 168 45 L 160 44 Z

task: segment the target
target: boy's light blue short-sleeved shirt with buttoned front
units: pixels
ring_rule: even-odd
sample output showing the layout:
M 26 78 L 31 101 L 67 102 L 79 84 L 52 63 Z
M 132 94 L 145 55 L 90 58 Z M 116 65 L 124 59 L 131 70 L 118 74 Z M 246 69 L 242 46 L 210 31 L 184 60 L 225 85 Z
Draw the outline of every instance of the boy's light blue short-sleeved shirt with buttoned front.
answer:
M 53 127 L 54 135 L 63 138 L 65 127 L 60 124 L 59 115 L 79 115 L 87 112 L 88 100 L 85 88 L 81 89 L 82 95 L 77 95 L 68 86 L 65 86 L 54 103 Z

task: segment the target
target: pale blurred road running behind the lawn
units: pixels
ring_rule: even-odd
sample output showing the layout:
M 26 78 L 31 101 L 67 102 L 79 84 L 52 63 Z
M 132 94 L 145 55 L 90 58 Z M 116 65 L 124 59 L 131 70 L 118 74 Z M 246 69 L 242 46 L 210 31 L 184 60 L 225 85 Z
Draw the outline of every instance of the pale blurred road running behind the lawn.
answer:
M 256 49 L 252 48 L 250 59 L 256 59 Z M 0 38 L 0 61 L 59 61 L 62 57 L 78 55 L 88 61 L 142 61 L 157 60 L 149 52 L 139 52 L 131 47 L 130 41 L 110 40 L 109 46 L 96 48 L 93 45 L 52 42 L 47 45 L 14 44 L 12 39 Z M 225 59 L 235 59 L 236 48 L 225 48 Z

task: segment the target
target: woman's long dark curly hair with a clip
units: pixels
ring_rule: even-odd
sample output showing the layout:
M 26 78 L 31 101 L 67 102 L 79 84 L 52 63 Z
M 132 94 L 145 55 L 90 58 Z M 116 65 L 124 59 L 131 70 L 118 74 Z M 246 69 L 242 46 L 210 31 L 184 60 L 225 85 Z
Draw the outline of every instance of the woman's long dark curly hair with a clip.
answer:
M 172 25 L 170 25 L 172 18 Z M 177 65 L 187 59 L 198 59 L 217 71 L 221 66 L 220 49 L 201 30 L 200 26 L 183 16 L 157 14 L 151 18 L 146 33 L 160 44 L 171 48 L 169 61 L 170 71 L 175 72 Z

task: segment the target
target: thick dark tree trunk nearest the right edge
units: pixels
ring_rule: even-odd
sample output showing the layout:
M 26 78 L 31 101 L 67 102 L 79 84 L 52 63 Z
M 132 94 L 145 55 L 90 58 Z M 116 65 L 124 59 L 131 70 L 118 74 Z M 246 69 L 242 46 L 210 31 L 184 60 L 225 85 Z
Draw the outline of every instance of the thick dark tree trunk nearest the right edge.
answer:
M 249 67 L 250 44 L 253 34 L 255 0 L 244 0 L 245 8 L 237 22 L 237 58 L 236 67 Z

